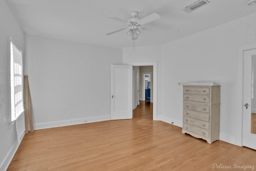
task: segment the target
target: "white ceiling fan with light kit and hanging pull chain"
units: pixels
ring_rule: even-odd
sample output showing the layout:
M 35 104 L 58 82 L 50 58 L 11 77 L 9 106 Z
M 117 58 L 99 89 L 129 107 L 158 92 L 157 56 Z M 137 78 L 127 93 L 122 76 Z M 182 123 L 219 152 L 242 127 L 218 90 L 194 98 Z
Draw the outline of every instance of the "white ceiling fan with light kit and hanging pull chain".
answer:
M 110 19 L 122 22 L 122 23 L 126 23 L 128 24 L 128 26 L 126 28 L 121 28 L 119 30 L 116 30 L 114 32 L 110 32 L 107 33 L 106 35 L 110 35 L 110 34 L 114 34 L 116 32 L 120 32 L 122 30 L 125 29 L 129 29 L 128 32 L 126 32 L 126 34 L 128 36 L 132 37 L 133 40 L 133 53 L 135 53 L 135 40 L 138 39 L 138 36 L 141 34 L 141 31 L 139 30 L 139 28 L 144 28 L 144 24 L 147 24 L 149 22 L 152 22 L 154 20 L 157 20 L 158 18 L 160 18 L 160 16 L 156 13 L 150 14 L 149 16 L 146 16 L 142 19 L 136 18 L 138 16 L 138 12 L 137 11 L 132 11 L 132 18 L 129 19 L 128 21 L 122 20 L 120 18 L 117 17 L 108 17 Z

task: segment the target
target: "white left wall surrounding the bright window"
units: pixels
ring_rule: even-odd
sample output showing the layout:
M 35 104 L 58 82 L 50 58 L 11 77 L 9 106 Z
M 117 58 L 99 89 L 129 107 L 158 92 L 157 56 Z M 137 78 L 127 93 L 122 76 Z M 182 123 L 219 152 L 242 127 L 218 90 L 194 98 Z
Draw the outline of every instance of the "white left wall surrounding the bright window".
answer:
M 8 76 L 7 36 L 24 49 L 24 32 L 5 0 L 0 0 L 0 171 L 7 169 L 18 148 L 15 124 L 9 127 L 11 117 Z M 23 53 L 24 55 L 24 53 Z

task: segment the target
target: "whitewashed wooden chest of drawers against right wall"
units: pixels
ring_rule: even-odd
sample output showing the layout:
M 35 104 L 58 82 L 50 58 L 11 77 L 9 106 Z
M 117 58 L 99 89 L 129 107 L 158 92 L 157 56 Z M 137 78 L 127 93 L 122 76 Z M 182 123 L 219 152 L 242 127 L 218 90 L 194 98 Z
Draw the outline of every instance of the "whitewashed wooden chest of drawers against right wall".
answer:
M 219 139 L 220 86 L 183 86 L 182 133 L 208 143 Z

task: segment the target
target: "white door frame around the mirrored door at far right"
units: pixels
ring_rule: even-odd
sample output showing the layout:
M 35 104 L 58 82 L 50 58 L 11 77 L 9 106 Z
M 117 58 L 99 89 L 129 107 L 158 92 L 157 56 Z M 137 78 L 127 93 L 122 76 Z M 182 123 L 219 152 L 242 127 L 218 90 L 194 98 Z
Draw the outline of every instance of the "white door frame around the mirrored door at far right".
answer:
M 256 49 L 256 43 L 238 47 L 238 74 L 237 74 L 237 120 L 236 120 L 236 145 L 243 146 L 243 80 L 244 80 L 244 51 Z

